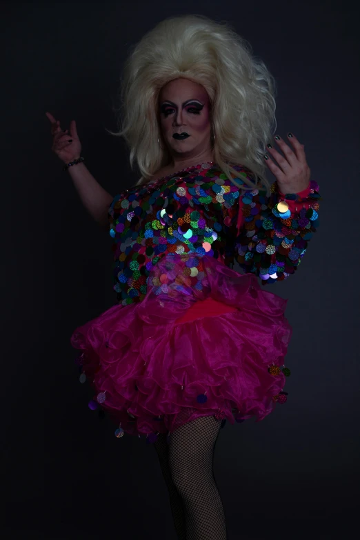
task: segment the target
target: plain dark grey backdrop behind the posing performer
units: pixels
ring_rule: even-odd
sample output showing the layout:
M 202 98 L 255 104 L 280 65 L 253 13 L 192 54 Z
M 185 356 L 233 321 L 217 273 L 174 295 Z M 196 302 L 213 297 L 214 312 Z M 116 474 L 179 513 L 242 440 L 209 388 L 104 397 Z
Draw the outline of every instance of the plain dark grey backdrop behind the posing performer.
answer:
M 2 2 L 1 13 L 6 538 L 175 539 L 154 449 L 116 439 L 79 383 L 69 339 L 115 301 L 111 239 L 61 171 L 45 112 L 63 129 L 77 121 L 86 166 L 109 192 L 134 183 L 104 130 L 116 128 L 121 66 L 130 43 L 186 13 L 231 21 L 266 62 L 277 132 L 305 144 L 323 197 L 297 274 L 271 288 L 289 299 L 294 330 L 288 402 L 259 423 L 227 423 L 217 443 L 228 539 L 295 538 L 304 522 L 308 538 L 337 537 L 359 502 L 359 12 L 260 0 Z

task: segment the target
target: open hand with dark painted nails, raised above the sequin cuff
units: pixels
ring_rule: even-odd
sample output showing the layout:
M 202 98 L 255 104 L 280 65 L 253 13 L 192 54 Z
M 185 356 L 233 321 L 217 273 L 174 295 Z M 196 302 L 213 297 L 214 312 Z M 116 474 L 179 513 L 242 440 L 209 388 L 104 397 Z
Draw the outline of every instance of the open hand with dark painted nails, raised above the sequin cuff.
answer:
M 269 159 L 264 158 L 266 165 L 272 174 L 274 174 L 274 177 L 277 178 L 279 191 L 283 194 L 299 193 L 306 190 L 310 182 L 310 168 L 308 163 L 306 163 L 306 156 L 303 150 L 305 147 L 299 143 L 297 138 L 294 137 L 294 134 L 292 134 L 292 137 L 288 137 L 288 140 L 291 141 L 294 150 L 289 148 L 281 137 L 279 141 L 274 140 L 283 151 L 283 154 L 285 154 L 285 157 L 277 152 L 273 145 L 272 148 L 266 148 L 267 155 L 271 154 L 277 163 L 279 163 L 279 167 L 270 157 Z

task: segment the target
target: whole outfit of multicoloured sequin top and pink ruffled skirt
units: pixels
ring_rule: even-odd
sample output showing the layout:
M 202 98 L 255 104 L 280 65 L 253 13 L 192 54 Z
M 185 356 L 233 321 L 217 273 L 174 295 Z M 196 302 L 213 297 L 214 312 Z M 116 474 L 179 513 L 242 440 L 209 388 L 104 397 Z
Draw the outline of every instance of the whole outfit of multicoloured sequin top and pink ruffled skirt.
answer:
M 290 369 L 283 359 L 291 327 L 283 317 L 285 301 L 263 291 L 254 276 L 268 284 L 294 274 L 319 224 L 319 186 L 311 181 L 300 194 L 283 196 L 274 183 L 267 197 L 263 190 L 243 190 L 244 180 L 254 183 L 254 175 L 243 166 L 232 167 L 239 173 L 240 178 L 234 176 L 239 186 L 216 164 L 202 163 L 128 188 L 112 201 L 114 290 L 121 305 L 78 328 L 72 346 L 82 350 L 76 361 L 80 382 L 88 380 L 96 392 L 88 406 L 100 409 L 99 413 L 116 414 L 118 438 L 125 432 L 139 437 L 143 433 L 152 443 L 165 428 L 176 429 L 183 419 L 179 410 L 174 413 L 174 404 L 194 417 L 203 410 L 213 412 L 223 427 L 226 418 L 237 422 L 252 414 L 263 418 L 271 409 L 269 399 L 270 405 L 287 401 L 283 384 Z M 253 275 L 239 277 L 225 268 L 235 261 Z M 232 335 L 228 335 L 226 317 L 192 321 L 193 334 L 190 326 L 181 328 L 180 324 L 175 329 L 178 315 L 188 312 L 194 301 L 210 297 L 224 299 L 241 313 L 241 323 L 232 326 Z M 123 308 L 134 303 L 138 305 Z M 237 310 L 229 318 L 239 322 Z M 223 341 L 226 352 L 219 368 L 217 361 L 212 363 L 216 330 L 211 324 L 221 328 L 221 339 L 228 340 Z M 206 330 L 208 325 L 210 330 Z M 198 328 L 211 336 L 201 350 Z M 261 339 L 244 340 L 241 332 L 248 331 L 259 332 Z M 173 340 L 169 354 L 169 337 L 176 333 L 178 341 Z M 189 336 L 192 339 L 182 352 L 181 339 Z M 269 355 L 264 343 L 273 348 Z M 252 362 L 256 377 L 248 377 L 248 355 L 257 359 Z M 240 382 L 234 359 L 241 366 Z M 198 371 L 197 365 L 201 366 Z M 207 365 L 211 368 L 206 369 Z

